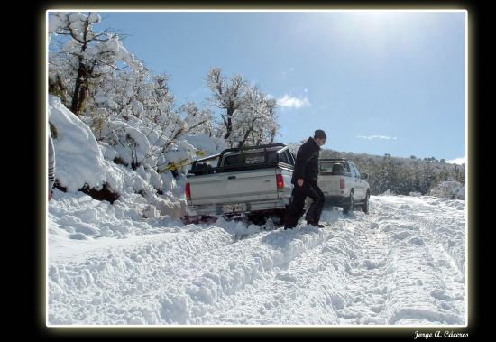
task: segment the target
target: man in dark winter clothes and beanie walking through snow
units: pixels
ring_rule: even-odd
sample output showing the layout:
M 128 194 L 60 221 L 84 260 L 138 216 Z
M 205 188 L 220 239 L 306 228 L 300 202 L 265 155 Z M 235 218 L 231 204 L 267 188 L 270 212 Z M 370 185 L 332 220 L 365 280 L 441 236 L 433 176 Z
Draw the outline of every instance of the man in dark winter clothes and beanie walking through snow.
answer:
M 303 143 L 296 156 L 295 170 L 291 183 L 294 184 L 292 192 L 292 201 L 289 205 L 288 214 L 284 229 L 294 228 L 299 219 L 299 215 L 305 206 L 307 196 L 313 199 L 308 208 L 305 219 L 308 225 L 323 227 L 318 224 L 322 208 L 324 208 L 324 194 L 317 186 L 318 177 L 318 154 L 320 146 L 326 143 L 326 133 L 317 129 L 314 137 L 309 137 L 306 143 Z

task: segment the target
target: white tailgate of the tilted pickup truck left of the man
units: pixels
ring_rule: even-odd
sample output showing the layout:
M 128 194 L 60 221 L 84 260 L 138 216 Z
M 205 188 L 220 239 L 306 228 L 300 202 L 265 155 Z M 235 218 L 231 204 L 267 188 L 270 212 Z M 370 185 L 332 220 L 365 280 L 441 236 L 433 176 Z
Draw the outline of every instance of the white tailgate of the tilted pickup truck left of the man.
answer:
M 189 183 L 191 205 L 278 199 L 274 168 L 207 174 Z

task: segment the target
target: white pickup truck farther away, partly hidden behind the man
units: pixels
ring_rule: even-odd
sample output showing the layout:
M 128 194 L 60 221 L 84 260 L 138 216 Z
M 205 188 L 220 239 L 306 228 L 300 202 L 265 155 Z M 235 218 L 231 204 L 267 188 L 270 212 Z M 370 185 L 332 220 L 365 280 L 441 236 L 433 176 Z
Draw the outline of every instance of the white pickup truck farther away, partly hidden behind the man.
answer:
M 342 207 L 348 214 L 360 206 L 369 213 L 371 189 L 367 174 L 360 174 L 353 162 L 346 159 L 319 159 L 317 185 L 326 197 L 326 204 Z

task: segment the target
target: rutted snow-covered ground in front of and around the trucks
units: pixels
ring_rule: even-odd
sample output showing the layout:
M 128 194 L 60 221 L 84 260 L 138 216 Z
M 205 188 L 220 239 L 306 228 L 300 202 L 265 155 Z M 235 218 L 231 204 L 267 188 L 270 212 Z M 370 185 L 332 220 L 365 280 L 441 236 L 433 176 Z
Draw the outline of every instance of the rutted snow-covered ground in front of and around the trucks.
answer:
M 182 226 L 54 191 L 53 325 L 465 325 L 465 202 L 376 196 L 325 228 Z

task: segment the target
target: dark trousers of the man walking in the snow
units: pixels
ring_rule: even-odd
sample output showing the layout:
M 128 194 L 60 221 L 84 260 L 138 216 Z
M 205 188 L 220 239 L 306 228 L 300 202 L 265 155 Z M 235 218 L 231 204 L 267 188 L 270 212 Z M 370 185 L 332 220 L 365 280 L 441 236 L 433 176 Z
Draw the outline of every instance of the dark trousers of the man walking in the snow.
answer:
M 303 211 L 303 207 L 305 207 L 305 199 L 307 199 L 307 196 L 313 199 L 313 202 L 310 208 L 308 208 L 305 218 L 307 219 L 308 224 L 317 225 L 320 220 L 320 215 L 322 214 L 322 208 L 324 208 L 325 201 L 324 194 L 318 188 L 317 183 L 304 180 L 303 186 L 301 187 L 299 187 L 298 184 L 295 184 L 292 196 L 293 200 L 289 206 L 284 228 L 293 228 L 297 225 L 299 215 Z

